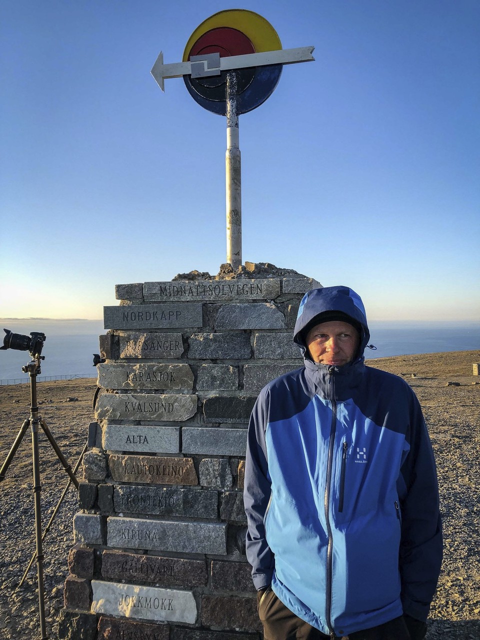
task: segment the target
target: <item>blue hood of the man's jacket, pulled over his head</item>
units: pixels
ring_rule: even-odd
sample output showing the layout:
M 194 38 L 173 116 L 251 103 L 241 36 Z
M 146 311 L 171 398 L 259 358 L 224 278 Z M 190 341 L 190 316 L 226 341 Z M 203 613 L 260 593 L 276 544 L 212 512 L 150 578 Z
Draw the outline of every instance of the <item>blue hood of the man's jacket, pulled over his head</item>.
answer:
M 310 359 L 308 349 L 305 344 L 305 329 L 308 325 L 313 326 L 323 322 L 321 314 L 327 312 L 337 312 L 348 316 L 353 320 L 353 326 L 360 325 L 360 345 L 354 360 L 364 355 L 364 349 L 370 339 L 370 332 L 367 324 L 367 315 L 362 299 L 349 287 L 322 287 L 312 289 L 303 296 L 293 333 L 293 341 L 302 350 L 303 357 Z M 317 320 L 317 322 L 315 322 Z M 346 322 L 348 319 L 346 318 Z

